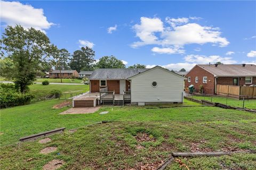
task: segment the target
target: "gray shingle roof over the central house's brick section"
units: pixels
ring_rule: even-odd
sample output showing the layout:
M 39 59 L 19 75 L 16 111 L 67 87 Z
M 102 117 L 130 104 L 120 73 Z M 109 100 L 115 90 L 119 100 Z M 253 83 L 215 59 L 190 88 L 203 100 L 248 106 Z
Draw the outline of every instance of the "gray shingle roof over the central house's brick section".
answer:
M 122 80 L 132 77 L 133 75 L 144 72 L 148 69 L 96 69 L 90 76 L 90 80 L 99 79 L 116 79 Z

